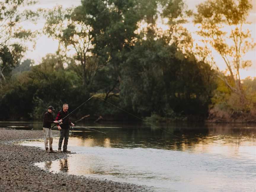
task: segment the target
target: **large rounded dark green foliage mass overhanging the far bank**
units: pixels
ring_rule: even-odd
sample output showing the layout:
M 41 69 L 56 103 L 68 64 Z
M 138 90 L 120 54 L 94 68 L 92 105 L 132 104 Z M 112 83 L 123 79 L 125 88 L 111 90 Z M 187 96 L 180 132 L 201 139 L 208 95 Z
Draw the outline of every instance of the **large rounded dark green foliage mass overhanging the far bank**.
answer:
M 142 116 L 154 112 L 172 118 L 170 111 L 183 116 L 207 115 L 209 89 L 214 84 L 213 80 L 203 81 L 207 64 L 186 59 L 175 45 L 163 40 L 141 41 L 128 54 L 121 71 L 120 96 L 125 107 Z M 213 76 L 209 67 L 207 70 Z

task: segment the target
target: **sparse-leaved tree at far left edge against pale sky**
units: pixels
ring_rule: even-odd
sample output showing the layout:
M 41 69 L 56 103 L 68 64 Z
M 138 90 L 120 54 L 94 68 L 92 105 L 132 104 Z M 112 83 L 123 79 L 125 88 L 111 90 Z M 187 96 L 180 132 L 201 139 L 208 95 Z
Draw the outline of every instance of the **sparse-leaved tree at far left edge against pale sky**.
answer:
M 5 0 L 0 2 L 0 87 L 12 68 L 20 63 L 27 47 L 25 41 L 32 41 L 36 33 L 25 30 L 20 24 L 26 20 L 35 22 L 38 13 L 24 10 L 35 4 L 32 0 Z M 21 10 L 23 9 L 23 10 Z

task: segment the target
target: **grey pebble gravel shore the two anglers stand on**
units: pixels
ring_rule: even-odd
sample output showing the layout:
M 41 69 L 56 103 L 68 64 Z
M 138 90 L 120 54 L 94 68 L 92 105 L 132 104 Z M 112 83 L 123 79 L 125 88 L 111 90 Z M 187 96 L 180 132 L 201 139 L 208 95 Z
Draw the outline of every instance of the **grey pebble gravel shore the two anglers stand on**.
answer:
M 47 153 L 39 147 L 13 144 L 13 141 L 42 138 L 42 131 L 0 131 L 0 191 L 153 191 L 130 183 L 44 171 L 33 164 L 65 158 L 68 154 Z M 53 136 L 58 134 L 53 131 Z

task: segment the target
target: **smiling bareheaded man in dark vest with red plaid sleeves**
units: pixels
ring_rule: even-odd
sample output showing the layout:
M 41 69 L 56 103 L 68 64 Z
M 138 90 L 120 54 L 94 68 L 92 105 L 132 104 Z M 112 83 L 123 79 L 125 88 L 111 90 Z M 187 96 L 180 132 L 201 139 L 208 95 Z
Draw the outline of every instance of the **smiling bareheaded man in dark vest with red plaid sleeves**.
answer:
M 58 112 L 55 120 L 64 119 L 68 115 L 68 104 L 63 104 L 63 109 Z M 61 145 L 64 138 L 63 144 L 63 152 L 71 152 L 68 151 L 68 137 L 69 137 L 69 126 L 74 126 L 74 124 L 69 120 L 69 116 L 65 118 L 62 124 L 57 124 L 58 129 L 60 130 L 60 139 L 59 139 L 59 148 L 58 152 L 61 152 Z

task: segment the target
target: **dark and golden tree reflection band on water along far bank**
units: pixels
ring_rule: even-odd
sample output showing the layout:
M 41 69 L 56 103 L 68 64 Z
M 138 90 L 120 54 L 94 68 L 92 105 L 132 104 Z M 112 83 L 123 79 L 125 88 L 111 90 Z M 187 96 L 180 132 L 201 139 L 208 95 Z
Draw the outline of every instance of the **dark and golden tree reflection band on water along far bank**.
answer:
M 102 129 L 101 129 L 102 130 Z M 107 138 L 95 132 L 73 132 L 80 146 L 100 146 L 114 148 L 159 148 L 186 151 L 196 145 L 210 143 L 235 144 L 256 141 L 255 128 L 231 127 L 230 125 L 207 125 L 204 127 L 166 127 L 178 137 L 167 134 L 156 127 L 124 127 L 105 129 Z M 79 138 L 79 139 L 78 139 Z M 233 147 L 233 146 L 232 146 Z

